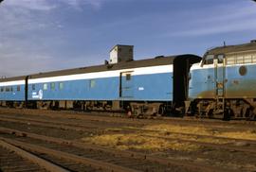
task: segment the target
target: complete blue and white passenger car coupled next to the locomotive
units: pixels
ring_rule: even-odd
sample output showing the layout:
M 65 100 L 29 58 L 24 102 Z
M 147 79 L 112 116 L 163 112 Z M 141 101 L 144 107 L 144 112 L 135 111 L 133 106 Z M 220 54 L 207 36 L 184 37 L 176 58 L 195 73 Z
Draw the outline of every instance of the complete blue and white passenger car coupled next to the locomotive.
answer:
M 187 98 L 194 55 L 130 60 L 28 77 L 27 100 L 36 106 L 79 109 L 135 109 L 154 105 L 162 112 Z M 174 67 L 174 65 L 177 65 Z M 174 85 L 175 83 L 175 85 Z M 137 112 L 137 113 L 140 113 Z

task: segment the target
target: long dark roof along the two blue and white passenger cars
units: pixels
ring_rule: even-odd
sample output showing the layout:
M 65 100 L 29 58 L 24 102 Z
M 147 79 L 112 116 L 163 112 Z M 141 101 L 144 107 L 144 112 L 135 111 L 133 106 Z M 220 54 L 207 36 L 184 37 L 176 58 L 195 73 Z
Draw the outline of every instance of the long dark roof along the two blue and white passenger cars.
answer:
M 173 64 L 174 59 L 176 58 L 193 58 L 193 59 L 201 59 L 196 55 L 176 55 L 176 56 L 158 56 L 154 59 L 146 59 L 146 60 L 130 60 L 130 61 L 122 61 L 116 64 L 103 64 L 103 65 L 96 65 L 96 66 L 88 66 L 88 67 L 80 67 L 74 69 L 66 69 L 60 71 L 52 71 L 46 73 L 39 73 L 29 75 L 28 78 L 39 78 L 39 77 L 57 77 L 57 76 L 66 76 L 66 75 L 75 75 L 75 74 L 82 74 L 82 73 L 92 73 L 92 72 L 101 72 L 101 71 L 113 71 L 113 70 L 120 70 L 120 69 L 129 69 L 129 68 L 137 68 L 137 67 L 147 67 L 147 66 L 155 66 L 155 65 L 167 65 Z M 0 82 L 3 81 L 10 81 L 16 80 L 25 77 L 9 77 L 9 78 L 1 78 Z

